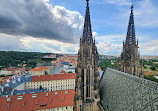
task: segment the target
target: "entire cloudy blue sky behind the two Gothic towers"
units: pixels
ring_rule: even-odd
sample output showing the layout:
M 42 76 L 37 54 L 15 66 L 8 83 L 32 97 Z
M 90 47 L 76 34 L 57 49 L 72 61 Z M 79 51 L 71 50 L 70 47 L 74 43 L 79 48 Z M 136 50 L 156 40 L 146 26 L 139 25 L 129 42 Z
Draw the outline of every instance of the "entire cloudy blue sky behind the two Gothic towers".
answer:
M 120 55 L 134 4 L 141 55 L 158 55 L 158 0 L 90 0 L 100 54 Z M 77 54 L 86 0 L 0 0 L 0 50 Z

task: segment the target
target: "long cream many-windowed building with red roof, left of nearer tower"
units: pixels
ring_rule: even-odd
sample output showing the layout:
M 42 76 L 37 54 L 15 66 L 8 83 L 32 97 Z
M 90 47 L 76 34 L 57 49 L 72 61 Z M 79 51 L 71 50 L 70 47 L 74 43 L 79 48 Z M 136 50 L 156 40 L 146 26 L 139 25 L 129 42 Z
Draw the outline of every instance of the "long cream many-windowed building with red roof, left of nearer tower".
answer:
M 75 89 L 75 78 L 76 73 L 33 76 L 31 82 L 25 83 L 25 89 L 40 87 L 48 91 Z

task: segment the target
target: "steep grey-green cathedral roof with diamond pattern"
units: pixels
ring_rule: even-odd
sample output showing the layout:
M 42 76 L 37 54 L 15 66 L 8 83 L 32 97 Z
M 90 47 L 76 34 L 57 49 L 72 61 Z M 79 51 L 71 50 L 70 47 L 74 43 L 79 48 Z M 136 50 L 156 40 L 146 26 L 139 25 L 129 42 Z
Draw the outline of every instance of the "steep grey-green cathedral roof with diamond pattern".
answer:
M 100 80 L 104 110 L 158 111 L 158 84 L 118 70 L 106 68 Z

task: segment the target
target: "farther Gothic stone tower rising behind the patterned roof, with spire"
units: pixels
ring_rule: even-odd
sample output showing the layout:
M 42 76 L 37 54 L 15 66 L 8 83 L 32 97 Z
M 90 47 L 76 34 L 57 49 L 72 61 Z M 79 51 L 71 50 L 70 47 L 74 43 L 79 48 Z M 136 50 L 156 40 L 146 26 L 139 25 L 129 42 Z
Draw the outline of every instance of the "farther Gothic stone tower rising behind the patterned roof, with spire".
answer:
M 121 53 L 118 70 L 142 77 L 143 65 L 140 68 L 140 53 L 138 53 L 138 40 L 136 42 L 133 5 L 131 6 L 131 14 L 128 24 L 126 41 L 123 42 L 123 51 Z

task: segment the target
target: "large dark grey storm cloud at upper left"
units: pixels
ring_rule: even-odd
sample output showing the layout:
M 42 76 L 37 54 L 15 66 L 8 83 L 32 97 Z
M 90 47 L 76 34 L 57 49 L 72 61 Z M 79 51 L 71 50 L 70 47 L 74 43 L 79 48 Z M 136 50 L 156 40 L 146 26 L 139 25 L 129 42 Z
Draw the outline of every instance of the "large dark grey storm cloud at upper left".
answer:
M 0 32 L 64 42 L 80 37 L 80 30 L 65 19 L 57 19 L 49 8 L 42 0 L 0 0 Z M 63 8 L 58 13 L 64 18 L 67 11 Z M 81 22 L 78 15 L 74 16 L 75 22 Z

